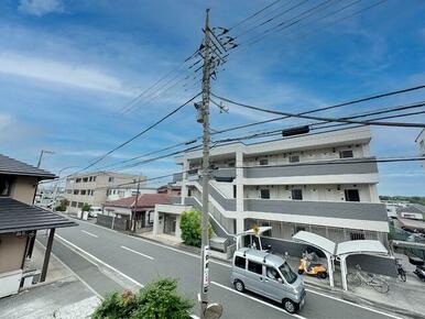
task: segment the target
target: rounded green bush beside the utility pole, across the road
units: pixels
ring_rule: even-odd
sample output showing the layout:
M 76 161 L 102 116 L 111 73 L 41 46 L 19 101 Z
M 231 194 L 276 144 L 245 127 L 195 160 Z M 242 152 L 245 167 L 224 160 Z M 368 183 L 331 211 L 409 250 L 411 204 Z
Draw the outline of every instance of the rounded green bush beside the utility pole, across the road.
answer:
M 201 212 L 198 210 L 184 211 L 181 217 L 182 240 L 185 244 L 200 248 L 201 242 Z M 212 229 L 208 222 L 208 234 L 211 237 Z

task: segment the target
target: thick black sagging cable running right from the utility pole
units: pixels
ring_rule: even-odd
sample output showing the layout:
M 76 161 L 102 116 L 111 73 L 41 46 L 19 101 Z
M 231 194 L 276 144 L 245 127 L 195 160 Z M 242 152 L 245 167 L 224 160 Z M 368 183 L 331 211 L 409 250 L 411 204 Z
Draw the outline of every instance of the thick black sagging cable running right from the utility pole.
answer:
M 374 121 L 355 121 L 355 120 L 345 120 L 345 119 L 335 119 L 335 118 L 325 118 L 325 117 L 315 117 L 315 116 L 307 116 L 307 114 L 299 114 L 299 113 L 290 113 L 290 112 L 282 112 L 277 110 L 271 110 L 266 108 L 260 108 L 254 106 L 249 106 L 240 102 L 236 102 L 233 100 L 230 100 L 228 98 L 222 98 L 220 96 L 217 96 L 215 94 L 211 94 L 214 97 L 224 100 L 226 102 L 246 108 L 251 109 L 260 112 L 271 113 L 271 114 L 280 114 L 288 118 L 301 118 L 301 119 L 308 119 L 308 120 L 316 120 L 316 121 L 325 121 L 325 122 L 341 122 L 341 123 L 351 123 L 351 124 L 368 124 L 368 125 L 380 125 L 380 127 L 400 127 L 400 128 L 425 128 L 425 123 L 397 123 L 397 122 L 374 122 Z

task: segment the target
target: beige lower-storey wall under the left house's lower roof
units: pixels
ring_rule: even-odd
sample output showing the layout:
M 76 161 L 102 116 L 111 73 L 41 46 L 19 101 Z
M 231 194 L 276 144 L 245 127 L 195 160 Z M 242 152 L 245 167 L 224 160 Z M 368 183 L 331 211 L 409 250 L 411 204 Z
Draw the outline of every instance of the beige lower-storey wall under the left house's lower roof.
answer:
M 0 274 L 21 270 L 28 235 L 0 234 Z

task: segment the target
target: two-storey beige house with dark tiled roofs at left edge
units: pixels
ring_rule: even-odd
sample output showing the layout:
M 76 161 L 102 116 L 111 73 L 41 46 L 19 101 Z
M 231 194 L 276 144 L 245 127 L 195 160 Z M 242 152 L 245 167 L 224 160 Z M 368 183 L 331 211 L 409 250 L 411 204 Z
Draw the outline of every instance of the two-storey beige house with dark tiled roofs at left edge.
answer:
M 50 230 L 40 279 L 44 282 L 55 229 L 76 226 L 33 206 L 39 182 L 53 178 L 54 174 L 0 154 L 0 297 L 15 294 L 29 284 L 25 263 L 32 256 L 39 230 Z

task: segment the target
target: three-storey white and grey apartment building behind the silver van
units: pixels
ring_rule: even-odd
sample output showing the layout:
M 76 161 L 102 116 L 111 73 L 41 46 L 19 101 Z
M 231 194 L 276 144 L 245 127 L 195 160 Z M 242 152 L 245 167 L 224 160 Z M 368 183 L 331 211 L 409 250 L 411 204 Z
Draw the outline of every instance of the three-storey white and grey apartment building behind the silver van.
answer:
M 307 134 L 255 144 L 233 143 L 210 151 L 209 213 L 218 234 L 253 224 L 291 239 L 306 230 L 333 241 L 374 239 L 386 242 L 388 215 L 380 204 L 375 157 L 368 127 Z M 177 158 L 174 204 L 200 209 L 201 151 Z M 168 209 L 168 208 L 166 208 Z M 178 215 L 178 209 L 157 211 Z

